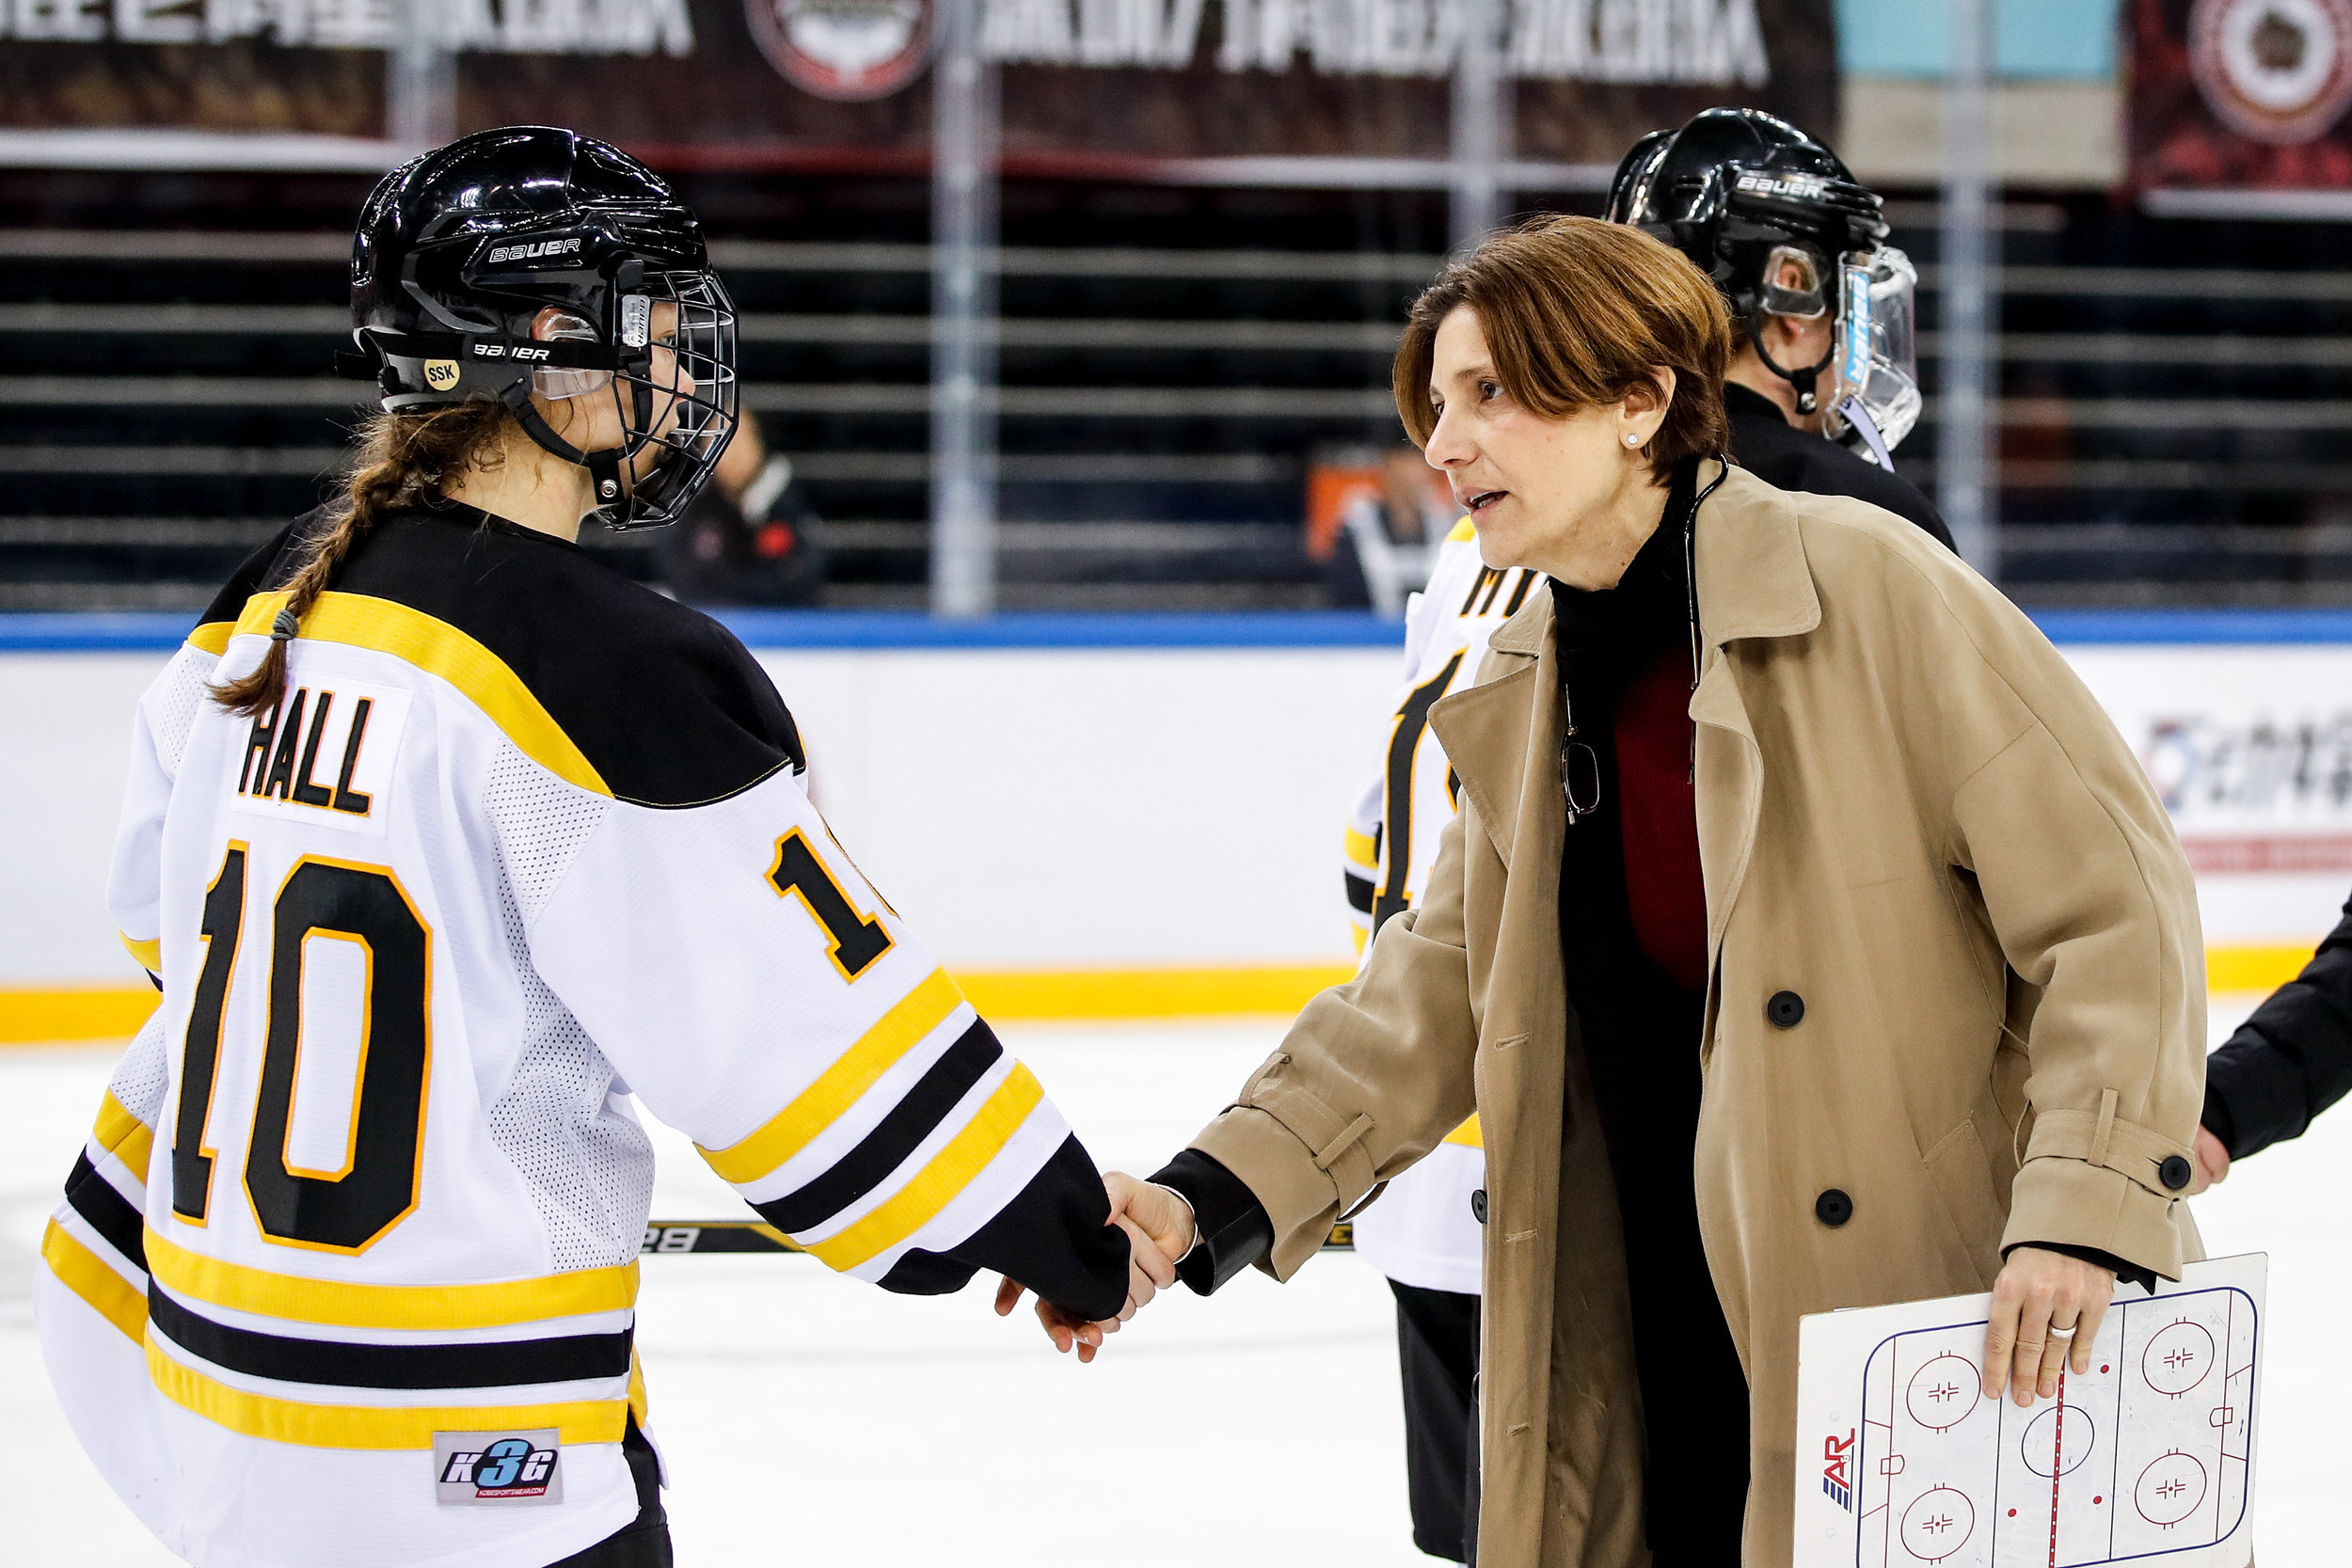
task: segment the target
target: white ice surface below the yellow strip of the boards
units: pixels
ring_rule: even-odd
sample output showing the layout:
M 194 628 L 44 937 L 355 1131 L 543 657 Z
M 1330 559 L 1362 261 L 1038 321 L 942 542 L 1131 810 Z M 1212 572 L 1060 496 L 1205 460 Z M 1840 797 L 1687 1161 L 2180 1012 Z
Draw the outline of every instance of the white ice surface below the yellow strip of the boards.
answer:
M 2253 1001 L 2216 997 L 2216 1039 Z M 1143 1173 L 1223 1105 L 1279 1025 L 1002 1034 L 1096 1159 Z M 172 1561 L 89 1469 L 33 1342 L 42 1218 L 111 1067 L 103 1048 L 0 1048 L 5 1563 Z M 684 1140 L 663 1138 L 661 1157 L 663 1218 L 739 1213 Z M 2333 1194 L 2347 1159 L 2352 1105 L 2197 1201 L 2209 1251 L 2270 1253 L 2263 1561 L 2343 1556 L 2352 1340 L 2336 1293 L 2352 1298 L 2352 1211 Z M 1030 1319 L 993 1316 L 985 1291 L 894 1298 L 807 1258 L 647 1260 L 640 1347 L 680 1563 L 1430 1561 L 1406 1533 L 1390 1298 L 1352 1258 L 1289 1286 L 1249 1274 L 1207 1302 L 1176 1293 L 1084 1368 Z

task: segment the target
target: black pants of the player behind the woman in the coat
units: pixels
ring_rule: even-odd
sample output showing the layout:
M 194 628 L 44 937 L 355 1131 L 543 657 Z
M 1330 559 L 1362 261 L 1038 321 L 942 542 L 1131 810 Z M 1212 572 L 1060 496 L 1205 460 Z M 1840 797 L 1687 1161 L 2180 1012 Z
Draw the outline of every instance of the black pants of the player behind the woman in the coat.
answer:
M 1414 1544 L 1454 1563 L 1477 1561 L 1477 1295 L 1397 1293 L 1397 1363 L 1404 1373 L 1404 1486 Z

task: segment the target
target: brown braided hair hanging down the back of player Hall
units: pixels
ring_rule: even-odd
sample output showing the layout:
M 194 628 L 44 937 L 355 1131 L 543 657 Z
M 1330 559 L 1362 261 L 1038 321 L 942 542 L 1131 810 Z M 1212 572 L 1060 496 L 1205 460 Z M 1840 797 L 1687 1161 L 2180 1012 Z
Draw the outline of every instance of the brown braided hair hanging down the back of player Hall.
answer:
M 449 402 L 428 409 L 369 414 L 360 425 L 360 449 L 336 498 L 329 524 L 313 534 L 310 555 L 285 583 L 287 607 L 270 628 L 270 651 L 249 672 L 212 689 L 212 701 L 245 717 L 275 708 L 287 691 L 287 642 L 301 618 L 327 592 L 350 548 L 386 512 L 423 505 L 442 484 L 468 468 L 496 465 L 496 449 L 515 416 L 489 400 Z

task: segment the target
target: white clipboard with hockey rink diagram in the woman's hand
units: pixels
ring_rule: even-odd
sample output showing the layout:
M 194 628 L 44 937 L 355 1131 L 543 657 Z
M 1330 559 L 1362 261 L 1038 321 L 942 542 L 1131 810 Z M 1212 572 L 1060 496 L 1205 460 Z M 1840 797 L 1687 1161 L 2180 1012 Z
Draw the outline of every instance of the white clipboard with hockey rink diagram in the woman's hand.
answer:
M 2244 1568 L 2267 1258 L 2117 1286 L 2091 1373 L 1985 1399 L 1990 1295 L 1797 1328 L 1795 1568 Z

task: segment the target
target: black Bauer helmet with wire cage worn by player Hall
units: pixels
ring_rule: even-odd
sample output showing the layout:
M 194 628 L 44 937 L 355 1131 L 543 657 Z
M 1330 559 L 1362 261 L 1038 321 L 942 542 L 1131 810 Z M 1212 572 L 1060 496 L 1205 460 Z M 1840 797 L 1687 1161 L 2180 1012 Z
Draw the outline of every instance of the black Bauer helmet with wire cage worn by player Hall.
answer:
M 534 339 L 550 308 L 553 339 Z M 374 378 L 386 411 L 496 397 L 534 442 L 588 468 L 614 529 L 677 522 L 734 435 L 734 303 L 701 223 L 593 136 L 513 125 L 386 174 L 350 247 L 350 322 L 360 353 L 336 364 Z M 534 390 L 612 397 L 623 444 L 581 451 Z M 647 447 L 659 456 L 630 482 Z

